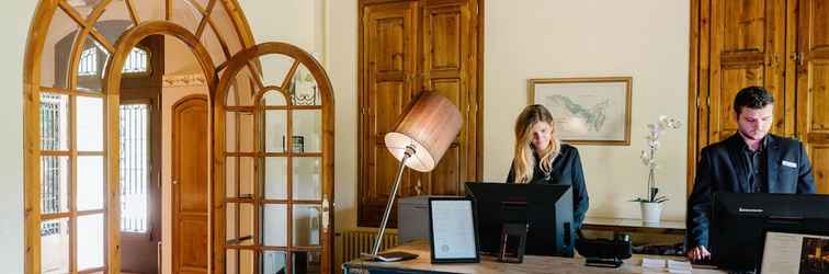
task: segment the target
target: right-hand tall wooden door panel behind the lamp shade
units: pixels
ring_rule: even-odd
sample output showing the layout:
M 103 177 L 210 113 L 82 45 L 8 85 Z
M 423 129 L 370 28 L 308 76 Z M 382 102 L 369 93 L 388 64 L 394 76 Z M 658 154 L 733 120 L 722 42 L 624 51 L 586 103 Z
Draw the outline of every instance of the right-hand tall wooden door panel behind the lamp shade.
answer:
M 476 174 L 477 14 L 476 1 L 444 1 L 423 7 L 423 90 L 450 99 L 459 109 L 463 125 L 457 139 L 438 167 L 421 175 L 424 191 L 459 195 L 463 183 Z

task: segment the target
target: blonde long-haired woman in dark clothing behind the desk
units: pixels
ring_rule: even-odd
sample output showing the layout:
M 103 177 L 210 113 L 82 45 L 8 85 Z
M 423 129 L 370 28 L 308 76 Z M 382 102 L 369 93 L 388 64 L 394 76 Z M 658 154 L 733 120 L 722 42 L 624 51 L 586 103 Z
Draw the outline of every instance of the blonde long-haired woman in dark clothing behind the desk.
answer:
M 572 186 L 572 221 L 581 228 L 588 210 L 588 193 L 579 151 L 556 139 L 553 115 L 534 104 L 515 121 L 515 150 L 507 183 L 564 184 Z

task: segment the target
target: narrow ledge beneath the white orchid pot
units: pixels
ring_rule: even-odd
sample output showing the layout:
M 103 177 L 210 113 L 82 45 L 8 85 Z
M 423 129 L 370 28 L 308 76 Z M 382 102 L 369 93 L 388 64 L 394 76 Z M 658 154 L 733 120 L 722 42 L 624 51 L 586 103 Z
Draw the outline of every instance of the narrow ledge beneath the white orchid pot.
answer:
M 685 222 L 662 220 L 659 224 L 644 222 L 640 219 L 587 217 L 581 225 L 586 230 L 604 230 L 613 232 L 645 232 L 661 235 L 685 235 Z

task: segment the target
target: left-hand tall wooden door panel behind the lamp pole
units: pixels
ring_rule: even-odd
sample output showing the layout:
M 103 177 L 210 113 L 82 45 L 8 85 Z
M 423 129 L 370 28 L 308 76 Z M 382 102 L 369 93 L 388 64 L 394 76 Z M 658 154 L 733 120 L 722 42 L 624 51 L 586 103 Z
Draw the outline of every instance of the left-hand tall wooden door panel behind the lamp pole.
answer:
M 387 151 L 384 136 L 393 129 L 416 88 L 418 2 L 363 8 L 361 41 L 360 208 L 361 226 L 377 226 L 399 162 Z M 413 193 L 406 171 L 400 195 Z M 391 215 L 389 226 L 397 224 Z

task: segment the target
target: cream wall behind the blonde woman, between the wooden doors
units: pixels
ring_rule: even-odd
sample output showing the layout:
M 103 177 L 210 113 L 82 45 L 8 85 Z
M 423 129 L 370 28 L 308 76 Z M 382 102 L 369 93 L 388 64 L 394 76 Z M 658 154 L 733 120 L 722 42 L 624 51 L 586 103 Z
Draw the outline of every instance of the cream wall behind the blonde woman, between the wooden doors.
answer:
M 639 218 L 647 170 L 645 125 L 660 114 L 688 121 L 688 1 L 486 1 L 484 178 L 503 181 L 512 126 L 527 102 L 526 80 L 633 77 L 631 146 L 576 146 L 590 194 L 588 216 Z M 509 146 L 506 146 L 509 144 Z M 685 210 L 686 128 L 669 132 L 657 180 L 671 199 L 663 219 Z

